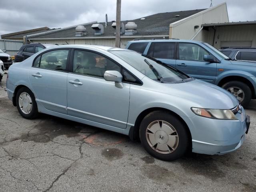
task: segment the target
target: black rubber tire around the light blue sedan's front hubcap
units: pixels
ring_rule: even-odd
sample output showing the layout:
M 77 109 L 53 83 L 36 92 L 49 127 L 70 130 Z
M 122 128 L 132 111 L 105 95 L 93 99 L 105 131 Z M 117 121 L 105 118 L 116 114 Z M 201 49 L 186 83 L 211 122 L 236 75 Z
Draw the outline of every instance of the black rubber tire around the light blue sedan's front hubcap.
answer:
M 162 120 L 171 124 L 178 134 L 178 144 L 176 145 L 176 149 L 169 154 L 162 154 L 157 152 L 150 146 L 147 141 L 147 128 L 152 122 L 156 120 Z M 156 137 L 156 135 L 154 136 Z M 154 111 L 145 116 L 140 124 L 140 141 L 142 146 L 150 155 L 164 161 L 172 161 L 184 156 L 190 145 L 189 134 L 187 132 L 186 126 L 175 115 L 166 111 Z M 156 145 L 158 145 L 158 143 Z

